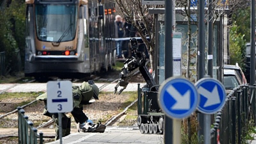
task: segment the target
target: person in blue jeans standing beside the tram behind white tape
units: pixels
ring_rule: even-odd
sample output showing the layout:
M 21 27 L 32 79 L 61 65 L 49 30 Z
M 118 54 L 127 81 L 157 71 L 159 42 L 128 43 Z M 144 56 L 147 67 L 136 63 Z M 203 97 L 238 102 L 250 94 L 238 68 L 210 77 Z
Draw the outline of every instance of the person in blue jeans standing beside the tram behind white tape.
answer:
M 124 37 L 124 24 L 122 22 L 122 17 L 120 15 L 116 15 L 115 20 L 115 38 L 123 38 Z M 116 55 L 117 58 L 122 57 L 122 40 L 116 40 Z

